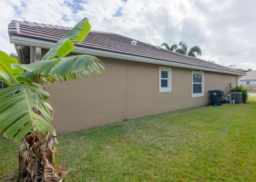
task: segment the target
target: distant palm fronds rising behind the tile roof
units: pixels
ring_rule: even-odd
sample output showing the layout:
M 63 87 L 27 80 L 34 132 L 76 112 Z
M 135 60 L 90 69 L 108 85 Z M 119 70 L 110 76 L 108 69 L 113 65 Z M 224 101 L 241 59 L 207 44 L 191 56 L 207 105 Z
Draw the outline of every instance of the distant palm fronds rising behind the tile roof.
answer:
M 174 51 L 191 57 L 202 55 L 202 50 L 199 46 L 193 46 L 190 49 L 188 49 L 188 45 L 183 41 L 179 43 L 179 46 L 177 44 L 169 46 L 167 43 L 163 43 L 162 46 L 164 46 L 169 51 Z

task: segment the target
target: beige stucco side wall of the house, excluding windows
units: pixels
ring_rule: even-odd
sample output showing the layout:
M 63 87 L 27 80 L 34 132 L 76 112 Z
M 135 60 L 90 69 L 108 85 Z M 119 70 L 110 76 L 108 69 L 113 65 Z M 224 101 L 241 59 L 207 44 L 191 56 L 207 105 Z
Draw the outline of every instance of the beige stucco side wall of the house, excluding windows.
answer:
M 101 75 L 47 85 L 58 133 L 209 103 L 208 90 L 236 76 L 204 72 L 204 97 L 191 97 L 191 70 L 172 67 L 172 92 L 158 92 L 158 65 L 102 58 Z

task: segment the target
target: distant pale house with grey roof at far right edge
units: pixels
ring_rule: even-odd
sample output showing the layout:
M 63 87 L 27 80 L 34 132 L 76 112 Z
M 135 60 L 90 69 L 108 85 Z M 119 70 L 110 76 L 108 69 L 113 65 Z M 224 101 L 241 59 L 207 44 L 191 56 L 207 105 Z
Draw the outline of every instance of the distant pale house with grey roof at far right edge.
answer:
M 256 70 L 246 72 L 246 76 L 239 78 L 239 85 L 256 91 Z

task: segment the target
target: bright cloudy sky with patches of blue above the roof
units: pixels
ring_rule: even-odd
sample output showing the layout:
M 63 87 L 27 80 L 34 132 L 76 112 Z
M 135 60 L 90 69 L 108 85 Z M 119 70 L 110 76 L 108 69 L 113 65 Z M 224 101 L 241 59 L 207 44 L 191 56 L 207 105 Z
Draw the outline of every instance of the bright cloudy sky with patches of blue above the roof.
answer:
M 204 60 L 256 70 L 256 1 L 251 0 L 1 0 L 0 50 L 15 52 L 11 20 L 73 27 L 87 17 L 92 30 L 161 45 L 199 45 Z

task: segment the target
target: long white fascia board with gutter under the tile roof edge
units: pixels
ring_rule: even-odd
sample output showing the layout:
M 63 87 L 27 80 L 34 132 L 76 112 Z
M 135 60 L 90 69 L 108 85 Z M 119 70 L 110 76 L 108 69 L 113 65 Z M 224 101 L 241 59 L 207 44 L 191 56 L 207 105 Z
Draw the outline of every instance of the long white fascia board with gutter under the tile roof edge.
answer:
M 10 42 L 13 44 L 20 44 L 20 45 L 25 45 L 25 46 L 34 46 L 34 47 L 41 47 L 41 48 L 51 48 L 55 44 L 53 42 L 49 42 L 49 41 L 45 41 L 45 40 L 38 40 L 38 39 L 19 37 L 19 36 L 10 37 Z M 237 75 L 237 76 L 246 75 L 243 73 L 236 73 L 236 72 L 225 71 L 225 70 L 205 68 L 205 67 L 199 67 L 196 65 L 188 65 L 188 64 L 182 64 L 182 63 L 176 63 L 176 62 L 170 62 L 170 61 L 162 61 L 162 60 L 156 60 L 156 59 L 151 59 L 151 58 L 147 58 L 147 57 L 127 55 L 127 54 L 123 54 L 123 53 L 114 53 L 114 52 L 110 52 L 110 51 L 102 51 L 99 49 L 85 48 L 85 47 L 79 47 L 79 46 L 76 46 L 76 49 L 73 51 L 73 53 L 89 54 L 89 55 L 94 55 L 94 56 L 110 57 L 110 58 L 114 58 L 114 59 L 121 59 L 121 60 L 127 60 L 127 61 L 136 61 L 136 62 L 157 64 L 157 65 L 165 65 L 165 66 L 169 66 L 169 67 L 179 67 L 179 68 L 187 68 L 187 69 L 194 69 L 194 70 L 226 73 L 226 74 Z

